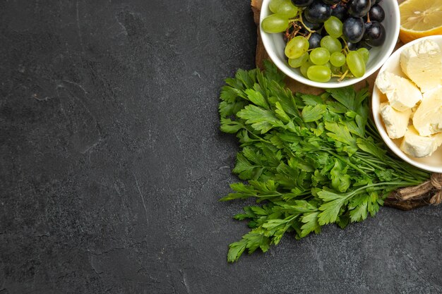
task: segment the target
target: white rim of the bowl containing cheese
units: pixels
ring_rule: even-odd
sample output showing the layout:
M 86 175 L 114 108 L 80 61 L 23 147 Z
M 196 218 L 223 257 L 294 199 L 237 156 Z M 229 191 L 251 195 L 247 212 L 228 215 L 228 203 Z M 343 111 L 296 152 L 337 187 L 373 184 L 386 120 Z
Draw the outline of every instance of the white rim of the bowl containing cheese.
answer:
M 424 39 L 441 39 L 442 40 L 442 35 L 433 35 L 433 36 L 428 36 L 428 37 L 422 37 L 419 39 L 415 39 L 412 42 L 409 42 L 407 44 L 404 44 L 403 46 L 401 46 L 400 48 L 398 48 L 393 54 L 391 54 L 391 56 L 389 57 L 389 59 L 394 59 L 396 58 L 396 56 L 400 55 L 400 53 L 408 48 L 413 46 L 414 44 L 417 44 L 418 42 L 422 42 L 422 40 Z M 379 71 L 379 73 L 382 73 L 383 71 L 386 71 L 388 68 L 390 68 L 390 66 L 388 66 L 388 61 L 386 61 L 386 63 L 383 64 L 383 66 L 381 67 L 381 70 Z M 374 97 L 375 97 L 375 92 L 379 91 L 378 87 L 376 87 L 376 83 L 373 87 L 373 93 L 371 95 L 371 111 L 373 113 L 373 118 L 374 118 L 374 123 L 376 125 L 376 128 L 378 128 L 378 132 L 381 135 L 383 141 L 386 143 L 386 145 L 388 146 L 388 148 L 390 148 L 391 151 L 393 151 L 398 157 L 400 157 L 401 159 L 403 159 L 404 161 L 407 161 L 409 164 L 412 164 L 413 166 L 418 167 L 419 169 L 423 169 L 425 171 L 431 171 L 434 173 L 442 173 L 442 166 L 440 168 L 438 167 L 434 167 L 434 166 L 429 166 L 427 164 L 422 164 L 421 162 L 415 161 L 414 159 L 412 159 L 411 157 L 409 157 L 407 154 L 405 154 L 404 152 L 402 152 L 402 150 L 398 147 L 398 145 L 395 144 L 395 142 L 393 142 L 393 140 L 390 139 L 390 137 L 388 137 L 387 131 L 383 126 L 382 121 L 379 119 L 378 116 L 378 111 L 379 111 L 379 104 L 381 104 L 381 101 L 376 93 L 376 107 L 374 107 Z M 442 147 L 439 147 L 442 148 Z

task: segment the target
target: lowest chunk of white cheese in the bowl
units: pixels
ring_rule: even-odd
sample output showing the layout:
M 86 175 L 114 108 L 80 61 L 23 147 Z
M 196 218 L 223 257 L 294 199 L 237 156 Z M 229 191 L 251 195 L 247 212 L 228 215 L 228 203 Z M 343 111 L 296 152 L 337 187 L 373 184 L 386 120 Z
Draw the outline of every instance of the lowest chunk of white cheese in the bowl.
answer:
M 410 125 L 405 132 L 400 149 L 411 157 L 429 157 L 442 143 L 442 133 L 429 137 L 420 136 Z

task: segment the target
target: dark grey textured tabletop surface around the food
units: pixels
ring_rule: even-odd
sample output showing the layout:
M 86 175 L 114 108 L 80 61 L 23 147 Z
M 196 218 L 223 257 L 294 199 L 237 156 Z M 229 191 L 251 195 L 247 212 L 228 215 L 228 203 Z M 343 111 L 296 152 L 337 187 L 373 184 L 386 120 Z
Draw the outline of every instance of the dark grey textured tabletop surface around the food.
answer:
M 442 293 L 441 207 L 226 263 L 249 1 L 0 1 L 0 294 Z

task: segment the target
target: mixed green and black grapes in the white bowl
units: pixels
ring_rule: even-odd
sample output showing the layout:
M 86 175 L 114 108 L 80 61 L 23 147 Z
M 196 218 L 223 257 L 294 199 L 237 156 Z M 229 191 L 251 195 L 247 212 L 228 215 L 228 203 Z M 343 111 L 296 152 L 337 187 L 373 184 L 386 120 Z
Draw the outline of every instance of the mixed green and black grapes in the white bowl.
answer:
M 316 82 L 360 78 L 386 39 L 381 0 L 271 0 L 265 32 L 284 32 L 289 66 Z

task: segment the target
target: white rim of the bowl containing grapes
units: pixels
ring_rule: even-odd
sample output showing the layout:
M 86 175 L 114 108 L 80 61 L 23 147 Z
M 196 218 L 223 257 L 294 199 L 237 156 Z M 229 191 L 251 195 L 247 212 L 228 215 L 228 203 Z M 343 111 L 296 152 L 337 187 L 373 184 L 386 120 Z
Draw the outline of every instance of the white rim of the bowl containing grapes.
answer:
M 263 11 L 264 8 L 265 9 L 268 8 L 269 2 L 270 2 L 270 0 L 263 0 L 263 4 L 261 6 L 261 12 Z M 393 35 L 393 39 L 397 41 L 398 37 L 399 37 L 399 28 L 400 28 L 399 4 L 395 0 L 392 1 L 392 3 L 393 3 L 393 7 L 395 8 L 394 13 L 398 16 L 396 18 L 396 22 L 395 22 L 395 27 L 397 27 L 397 30 L 395 30 L 394 35 Z M 393 52 L 393 50 L 395 49 L 395 46 L 397 44 L 397 42 L 391 42 L 390 47 L 388 47 L 388 49 L 386 50 L 386 54 L 381 58 L 380 61 L 378 61 L 378 63 L 375 64 L 375 66 L 373 66 L 373 68 L 371 68 L 369 71 L 366 71 L 366 73 L 361 78 L 349 78 L 347 80 L 342 80 L 342 82 L 314 82 L 313 80 L 309 80 L 307 78 L 302 77 L 301 75 L 295 74 L 294 71 L 292 71 L 292 69 L 288 68 L 288 66 L 286 66 L 284 63 L 282 63 L 280 61 L 280 59 L 277 58 L 274 51 L 268 50 L 268 46 L 266 46 L 266 44 L 270 44 L 270 42 L 271 42 L 270 41 L 270 33 L 264 32 L 263 28 L 261 27 L 261 22 L 263 21 L 264 17 L 267 16 L 267 15 L 265 15 L 265 16 L 264 15 L 265 15 L 265 13 L 261 13 L 261 16 L 259 18 L 259 31 L 261 33 L 261 39 L 263 41 L 265 51 L 267 51 L 268 56 L 273 61 L 273 63 L 275 63 L 277 68 L 279 68 L 280 71 L 285 73 L 285 75 L 289 76 L 289 78 L 292 78 L 294 80 L 297 80 L 298 82 L 301 82 L 304 85 L 309 85 L 312 87 L 328 88 L 328 89 L 340 88 L 340 87 L 346 87 L 349 85 L 354 85 L 357 82 L 360 82 L 362 80 L 366 80 L 366 78 L 368 78 L 370 75 L 372 75 L 374 72 L 376 72 L 383 65 L 383 63 L 386 62 L 386 60 L 388 59 L 390 54 Z

